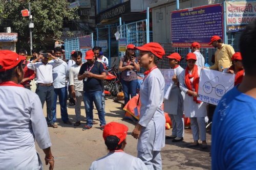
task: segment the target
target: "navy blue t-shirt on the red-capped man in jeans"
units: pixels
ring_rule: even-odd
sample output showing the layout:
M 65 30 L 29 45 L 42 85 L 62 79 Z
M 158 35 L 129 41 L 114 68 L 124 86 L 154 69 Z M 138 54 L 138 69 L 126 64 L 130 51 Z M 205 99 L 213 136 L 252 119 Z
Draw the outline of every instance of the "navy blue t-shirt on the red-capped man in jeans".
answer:
M 95 75 L 101 75 L 104 71 L 104 66 L 102 63 L 95 61 L 94 64 L 89 64 L 88 62 L 83 63 L 79 70 L 79 75 L 82 75 L 84 71 L 90 71 Z M 83 91 L 94 92 L 102 91 L 102 80 L 95 78 L 83 79 Z

